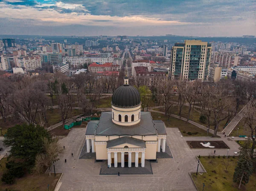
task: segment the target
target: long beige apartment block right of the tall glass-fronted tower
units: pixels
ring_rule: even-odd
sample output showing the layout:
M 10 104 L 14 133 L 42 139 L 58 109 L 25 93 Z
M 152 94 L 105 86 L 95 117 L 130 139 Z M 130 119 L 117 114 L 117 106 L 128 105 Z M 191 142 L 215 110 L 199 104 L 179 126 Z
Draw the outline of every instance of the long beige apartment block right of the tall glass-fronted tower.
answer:
M 211 64 L 218 63 L 221 66 L 231 67 L 240 65 L 241 57 L 234 53 L 214 51 L 211 56 Z

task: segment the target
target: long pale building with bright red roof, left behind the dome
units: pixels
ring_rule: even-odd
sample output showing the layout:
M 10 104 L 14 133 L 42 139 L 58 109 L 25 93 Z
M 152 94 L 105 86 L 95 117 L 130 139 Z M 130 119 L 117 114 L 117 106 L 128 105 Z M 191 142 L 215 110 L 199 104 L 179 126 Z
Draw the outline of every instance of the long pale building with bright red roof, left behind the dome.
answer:
M 92 63 L 88 66 L 88 71 L 91 73 L 97 73 L 98 71 L 120 71 L 121 66 L 113 63 L 97 64 Z

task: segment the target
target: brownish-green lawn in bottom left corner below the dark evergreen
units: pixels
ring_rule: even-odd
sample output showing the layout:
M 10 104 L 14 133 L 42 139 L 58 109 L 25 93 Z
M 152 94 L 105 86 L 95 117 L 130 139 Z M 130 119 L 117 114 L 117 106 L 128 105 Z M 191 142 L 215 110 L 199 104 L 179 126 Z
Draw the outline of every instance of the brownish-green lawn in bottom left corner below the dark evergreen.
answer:
M 7 171 L 6 169 L 6 157 L 0 160 L 2 168 L 0 168 L 0 177 Z M 0 191 L 13 190 L 13 191 L 47 191 L 47 185 L 49 184 L 49 190 L 53 191 L 61 174 L 26 174 L 21 178 L 15 178 L 15 182 L 12 185 L 7 185 L 0 179 Z

